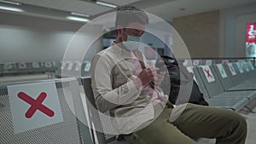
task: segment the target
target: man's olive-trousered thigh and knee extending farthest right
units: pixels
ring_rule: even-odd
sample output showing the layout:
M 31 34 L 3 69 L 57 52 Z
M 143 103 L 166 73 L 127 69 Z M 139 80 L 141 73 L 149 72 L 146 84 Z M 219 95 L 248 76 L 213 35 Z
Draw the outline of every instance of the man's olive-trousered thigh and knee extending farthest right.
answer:
M 216 138 L 226 135 L 229 125 L 241 118 L 229 109 L 188 104 L 172 124 L 191 137 Z

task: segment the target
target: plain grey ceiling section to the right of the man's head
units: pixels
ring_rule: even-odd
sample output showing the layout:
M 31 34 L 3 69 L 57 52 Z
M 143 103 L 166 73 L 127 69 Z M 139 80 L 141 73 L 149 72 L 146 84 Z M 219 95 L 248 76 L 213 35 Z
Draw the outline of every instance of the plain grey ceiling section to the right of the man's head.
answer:
M 246 4 L 256 4 L 256 0 L 176 0 L 147 8 L 164 20 L 172 20 L 189 14 L 200 14 L 217 9 L 229 9 Z M 181 10 L 184 9 L 184 10 Z

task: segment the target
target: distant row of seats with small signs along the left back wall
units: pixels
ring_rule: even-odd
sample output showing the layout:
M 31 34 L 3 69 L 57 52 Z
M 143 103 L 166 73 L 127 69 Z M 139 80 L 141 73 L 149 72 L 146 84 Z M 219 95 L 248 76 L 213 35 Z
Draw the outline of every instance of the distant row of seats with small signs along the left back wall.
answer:
M 44 61 L 44 62 L 7 62 L 0 63 L 0 75 L 22 75 L 53 72 L 56 78 L 90 76 L 90 61 Z

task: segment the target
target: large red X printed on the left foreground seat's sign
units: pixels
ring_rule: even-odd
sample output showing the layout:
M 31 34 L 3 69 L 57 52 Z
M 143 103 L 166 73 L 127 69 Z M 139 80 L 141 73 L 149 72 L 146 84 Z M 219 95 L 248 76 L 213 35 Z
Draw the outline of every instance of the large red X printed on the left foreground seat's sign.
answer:
M 32 97 L 30 97 L 29 95 L 26 95 L 24 92 L 20 92 L 18 94 L 18 97 L 23 100 L 26 101 L 28 104 L 31 105 L 31 107 L 29 107 L 29 109 L 27 110 L 25 116 L 26 118 L 32 118 L 33 114 L 39 110 L 41 112 L 44 112 L 46 115 L 48 115 L 49 117 L 53 117 L 55 115 L 55 112 L 53 112 L 52 110 L 50 110 L 48 107 L 45 107 L 42 102 L 44 101 L 44 99 L 46 98 L 47 94 L 46 93 L 41 93 L 37 100 L 34 100 Z

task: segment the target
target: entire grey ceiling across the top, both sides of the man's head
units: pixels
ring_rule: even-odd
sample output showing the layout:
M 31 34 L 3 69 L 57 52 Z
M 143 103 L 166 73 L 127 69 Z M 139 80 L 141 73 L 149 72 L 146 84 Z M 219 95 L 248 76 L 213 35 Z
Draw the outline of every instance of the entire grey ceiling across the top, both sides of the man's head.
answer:
M 2 1 L 2 2 L 1 2 Z M 101 0 L 106 3 L 120 5 L 134 5 L 148 13 L 172 21 L 173 18 L 199 14 L 217 9 L 228 9 L 245 4 L 256 4 L 256 0 Z M 63 20 L 64 15 L 71 12 L 89 14 L 89 19 L 114 11 L 116 8 L 96 4 L 96 0 L 13 0 L 21 5 L 3 3 L 0 6 L 11 6 L 24 9 L 22 14 Z M 0 10 L 3 11 L 3 10 Z

